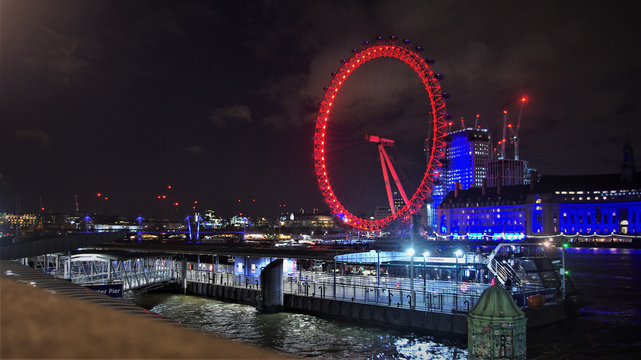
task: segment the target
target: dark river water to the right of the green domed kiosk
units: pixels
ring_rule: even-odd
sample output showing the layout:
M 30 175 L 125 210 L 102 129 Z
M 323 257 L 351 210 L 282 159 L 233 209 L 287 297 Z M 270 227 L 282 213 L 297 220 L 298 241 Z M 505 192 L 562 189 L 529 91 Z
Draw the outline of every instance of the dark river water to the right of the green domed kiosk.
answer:
M 528 359 L 641 359 L 641 250 L 568 249 L 566 261 L 596 303 L 528 331 Z

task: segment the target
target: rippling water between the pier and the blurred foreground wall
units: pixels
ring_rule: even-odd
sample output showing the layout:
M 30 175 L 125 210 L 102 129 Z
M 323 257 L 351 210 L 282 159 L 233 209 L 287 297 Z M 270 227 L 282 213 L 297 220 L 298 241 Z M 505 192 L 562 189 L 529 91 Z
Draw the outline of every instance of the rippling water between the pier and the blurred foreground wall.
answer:
M 138 306 L 225 338 L 319 359 L 467 359 L 465 340 L 443 340 L 312 315 L 265 315 L 253 306 L 167 293 L 135 296 Z

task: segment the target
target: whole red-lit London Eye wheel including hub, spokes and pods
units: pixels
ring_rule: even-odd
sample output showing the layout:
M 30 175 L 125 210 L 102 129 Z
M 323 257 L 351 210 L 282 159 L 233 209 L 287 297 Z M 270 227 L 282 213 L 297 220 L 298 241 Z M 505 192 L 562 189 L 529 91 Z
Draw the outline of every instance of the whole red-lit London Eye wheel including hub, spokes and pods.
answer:
M 410 217 L 431 194 L 452 117 L 445 111 L 449 94 L 440 88 L 444 77 L 431 69 L 434 60 L 422 58 L 422 47 L 379 37 L 352 53 L 331 74 L 319 103 L 315 174 L 345 225 L 375 231 Z M 387 214 L 370 216 L 381 205 L 389 206 Z

